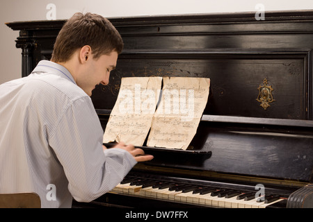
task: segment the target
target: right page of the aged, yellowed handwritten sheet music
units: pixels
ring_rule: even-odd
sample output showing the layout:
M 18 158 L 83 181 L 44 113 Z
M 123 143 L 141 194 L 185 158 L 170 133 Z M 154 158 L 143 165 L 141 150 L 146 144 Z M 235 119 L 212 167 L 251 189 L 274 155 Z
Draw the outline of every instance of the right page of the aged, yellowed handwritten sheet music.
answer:
M 161 101 L 154 113 L 147 146 L 188 148 L 209 96 L 209 78 L 163 78 Z

